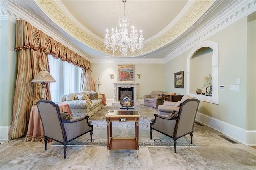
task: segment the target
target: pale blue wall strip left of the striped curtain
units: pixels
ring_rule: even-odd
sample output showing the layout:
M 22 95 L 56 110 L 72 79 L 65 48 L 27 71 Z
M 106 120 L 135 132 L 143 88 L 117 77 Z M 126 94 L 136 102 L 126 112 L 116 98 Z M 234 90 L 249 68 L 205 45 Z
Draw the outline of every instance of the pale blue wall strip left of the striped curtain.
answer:
M 0 37 L 0 127 L 6 127 L 12 123 L 16 82 L 15 23 L 1 20 Z

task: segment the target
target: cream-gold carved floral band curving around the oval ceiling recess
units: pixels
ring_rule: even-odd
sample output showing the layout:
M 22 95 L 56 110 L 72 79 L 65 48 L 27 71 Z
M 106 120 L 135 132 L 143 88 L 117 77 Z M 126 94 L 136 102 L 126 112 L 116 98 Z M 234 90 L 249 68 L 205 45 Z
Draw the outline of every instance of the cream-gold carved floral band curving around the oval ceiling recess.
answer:
M 65 30 L 68 34 L 72 35 L 74 38 L 84 43 L 85 45 L 92 47 L 103 53 L 105 48 L 103 45 L 103 40 L 99 40 L 92 36 L 91 32 L 88 32 L 84 27 L 81 28 L 81 25 L 78 25 L 77 22 L 74 22 L 70 15 L 67 15 L 67 10 L 63 10 L 63 6 L 60 6 L 60 2 L 56 3 L 51 0 L 36 0 L 36 4 L 44 11 L 49 18 L 51 18 L 58 26 Z M 144 55 L 155 51 L 164 45 L 172 42 L 182 33 L 184 33 L 190 26 L 192 26 L 210 6 L 214 3 L 212 0 L 201 0 L 193 1 L 188 10 L 182 15 L 182 17 L 174 24 L 165 34 L 156 38 L 148 43 L 144 44 L 144 49 L 142 53 L 136 53 L 139 55 Z M 61 7 L 61 8 L 60 8 Z M 187 7 L 186 7 L 187 8 Z M 108 53 L 110 54 L 110 52 Z

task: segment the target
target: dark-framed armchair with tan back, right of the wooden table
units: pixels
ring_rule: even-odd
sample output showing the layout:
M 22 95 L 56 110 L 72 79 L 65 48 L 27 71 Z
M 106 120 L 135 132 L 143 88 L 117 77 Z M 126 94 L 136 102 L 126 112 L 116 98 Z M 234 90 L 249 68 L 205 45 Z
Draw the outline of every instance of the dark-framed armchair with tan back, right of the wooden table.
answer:
M 155 119 L 150 123 L 150 139 L 152 139 L 152 130 L 156 130 L 174 140 L 174 152 L 176 153 L 177 139 L 190 134 L 191 144 L 193 143 L 193 128 L 196 119 L 196 113 L 199 106 L 198 99 L 188 99 L 180 103 L 178 115 L 154 114 Z

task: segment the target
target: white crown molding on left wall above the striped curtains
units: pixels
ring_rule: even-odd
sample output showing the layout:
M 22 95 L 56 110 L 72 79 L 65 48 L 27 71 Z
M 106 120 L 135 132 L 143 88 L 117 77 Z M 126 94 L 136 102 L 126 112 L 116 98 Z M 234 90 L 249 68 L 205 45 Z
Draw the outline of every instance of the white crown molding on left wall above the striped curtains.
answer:
M 28 1 L 31 6 L 34 6 L 33 9 L 36 9 L 34 1 Z M 42 30 L 44 33 L 46 33 L 50 37 L 54 37 L 54 39 L 72 51 L 75 51 L 78 55 L 84 57 L 87 60 L 90 60 L 90 57 L 82 53 L 78 48 L 75 46 L 71 45 L 70 42 L 67 40 L 63 39 L 61 35 L 57 34 L 56 32 L 53 32 L 48 26 L 44 25 L 44 21 L 39 20 L 23 8 L 21 8 L 18 4 L 16 4 L 14 1 L 9 1 L 8 3 L 8 8 L 9 8 L 9 16 L 12 16 L 15 20 L 26 20 L 30 24 L 32 24 L 34 27 L 38 28 L 39 30 Z M 15 23 L 15 21 L 14 21 Z

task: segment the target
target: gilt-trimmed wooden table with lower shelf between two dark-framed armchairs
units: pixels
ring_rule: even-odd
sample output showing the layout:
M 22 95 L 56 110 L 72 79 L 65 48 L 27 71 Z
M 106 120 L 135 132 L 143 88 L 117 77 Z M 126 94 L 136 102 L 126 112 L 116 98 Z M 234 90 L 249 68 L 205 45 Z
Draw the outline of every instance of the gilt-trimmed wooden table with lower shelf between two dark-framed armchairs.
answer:
M 137 150 L 137 157 L 139 155 L 139 121 L 140 113 L 138 111 L 128 110 L 110 110 L 106 114 L 107 121 L 107 138 L 108 138 L 108 156 L 109 150 Z M 113 137 L 112 136 L 112 122 L 135 122 L 135 137 Z

